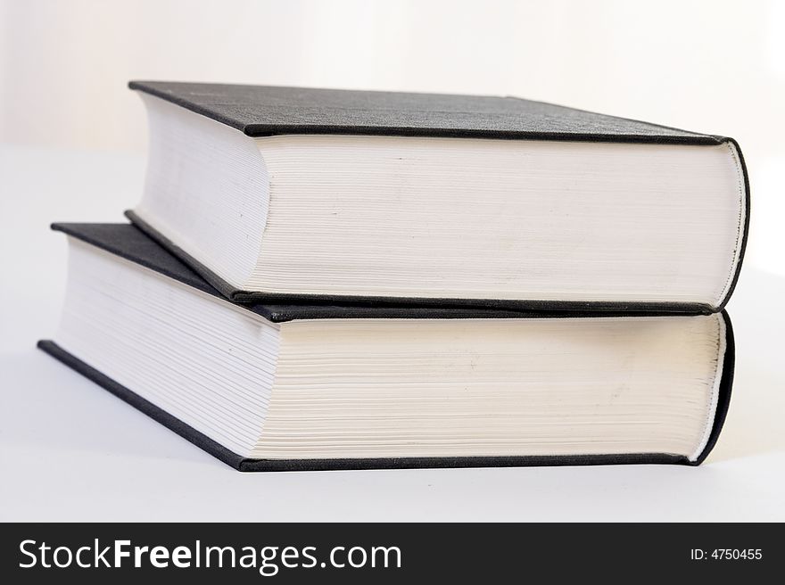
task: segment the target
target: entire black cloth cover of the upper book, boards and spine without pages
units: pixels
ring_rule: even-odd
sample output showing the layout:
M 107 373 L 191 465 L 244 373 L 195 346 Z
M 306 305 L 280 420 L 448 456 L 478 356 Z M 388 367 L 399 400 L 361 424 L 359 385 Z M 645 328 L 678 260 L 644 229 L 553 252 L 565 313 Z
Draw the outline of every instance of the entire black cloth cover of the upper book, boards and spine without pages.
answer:
M 575 110 L 517 97 L 407 94 L 306 87 L 241 86 L 168 81 L 131 81 L 128 87 L 218 120 L 247 136 L 351 134 L 565 140 L 643 144 L 732 143 L 739 154 L 749 210 L 749 181 L 739 144 L 715 136 L 639 120 Z M 708 315 L 724 308 L 739 279 L 747 246 L 749 212 L 743 220 L 739 262 L 717 306 L 685 302 L 500 301 L 293 295 L 244 291 L 216 275 L 133 211 L 126 215 L 147 235 L 184 260 L 228 299 L 248 303 L 385 303 L 426 307 L 492 307 L 533 311 L 591 311 L 635 314 Z

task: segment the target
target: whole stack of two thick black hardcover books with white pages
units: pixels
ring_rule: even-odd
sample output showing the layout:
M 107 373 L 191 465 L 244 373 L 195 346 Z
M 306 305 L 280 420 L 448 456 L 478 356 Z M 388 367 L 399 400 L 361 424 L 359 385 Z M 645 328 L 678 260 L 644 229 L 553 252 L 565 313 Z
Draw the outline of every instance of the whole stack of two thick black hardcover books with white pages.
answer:
M 738 144 L 511 97 L 132 82 L 131 223 L 39 347 L 242 471 L 700 463 Z

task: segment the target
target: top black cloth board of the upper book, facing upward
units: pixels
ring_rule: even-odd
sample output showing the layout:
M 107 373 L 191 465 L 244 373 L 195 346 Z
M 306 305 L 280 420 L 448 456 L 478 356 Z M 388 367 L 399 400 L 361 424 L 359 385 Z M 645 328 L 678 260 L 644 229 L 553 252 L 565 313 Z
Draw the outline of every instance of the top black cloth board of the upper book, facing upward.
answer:
M 712 136 L 553 103 L 490 95 L 131 81 L 247 136 L 353 134 L 722 144 Z

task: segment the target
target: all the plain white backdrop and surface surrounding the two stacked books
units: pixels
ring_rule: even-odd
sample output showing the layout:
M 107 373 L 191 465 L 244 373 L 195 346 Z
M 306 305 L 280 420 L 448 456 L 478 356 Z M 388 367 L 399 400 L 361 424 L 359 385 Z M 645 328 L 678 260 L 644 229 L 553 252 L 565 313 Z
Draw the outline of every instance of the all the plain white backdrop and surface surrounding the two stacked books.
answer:
M 54 220 L 120 221 L 130 78 L 519 95 L 734 136 L 753 221 L 704 466 L 239 474 L 34 350 Z M 0 0 L 0 520 L 785 520 L 785 3 Z

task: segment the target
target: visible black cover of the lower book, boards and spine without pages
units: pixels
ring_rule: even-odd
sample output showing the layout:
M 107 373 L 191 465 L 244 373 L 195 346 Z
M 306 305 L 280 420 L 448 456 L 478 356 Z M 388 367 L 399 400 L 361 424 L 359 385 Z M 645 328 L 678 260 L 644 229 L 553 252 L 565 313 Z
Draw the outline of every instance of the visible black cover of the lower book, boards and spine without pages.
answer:
M 204 293 L 220 297 L 220 294 L 194 273 L 180 260 L 169 254 L 157 243 L 146 237 L 136 227 L 128 224 L 54 224 L 53 229 L 95 245 L 105 251 L 116 254 L 161 273 L 181 283 L 193 286 Z M 428 309 L 417 307 L 394 306 L 351 306 L 351 305 L 255 305 L 245 306 L 262 317 L 274 322 L 283 322 L 303 318 L 491 318 L 491 317 L 549 317 L 544 313 L 527 313 L 494 309 L 460 309 L 443 308 Z M 566 314 L 559 314 L 566 317 Z M 579 314 L 570 316 L 581 316 Z M 583 316 L 596 315 L 588 314 Z M 552 316 L 550 316 L 552 317 Z M 105 390 L 128 402 L 134 408 L 144 412 L 169 430 L 191 441 L 219 458 L 228 466 L 239 471 L 310 471 L 330 469 L 390 469 L 416 467 L 495 467 L 495 466 L 574 466 L 574 465 L 619 465 L 619 464 L 681 464 L 699 465 L 714 448 L 722 430 L 728 405 L 731 400 L 731 386 L 735 348 L 731 320 L 723 310 L 726 343 L 723 359 L 723 375 L 720 381 L 719 396 L 715 420 L 706 448 L 696 461 L 687 457 L 672 454 L 640 453 L 623 455 L 591 455 L 591 456 L 548 456 L 548 457 L 401 457 L 401 458 L 351 458 L 351 459 L 306 459 L 306 460 L 269 460 L 249 459 L 224 448 L 216 441 L 196 431 L 178 418 L 169 415 L 165 410 L 156 407 L 134 391 L 114 382 L 85 362 L 63 350 L 55 342 L 40 341 L 38 348 L 53 358 L 71 367 L 79 374 L 86 376 Z

